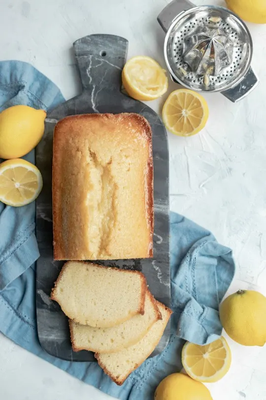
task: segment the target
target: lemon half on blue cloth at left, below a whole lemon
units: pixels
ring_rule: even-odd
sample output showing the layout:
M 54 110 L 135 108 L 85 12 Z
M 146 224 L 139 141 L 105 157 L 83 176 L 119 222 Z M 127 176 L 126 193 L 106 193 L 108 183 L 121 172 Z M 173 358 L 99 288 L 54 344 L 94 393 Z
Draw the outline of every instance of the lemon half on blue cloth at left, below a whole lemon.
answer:
M 22 159 L 3 161 L 0 164 L 0 201 L 18 207 L 35 200 L 42 189 L 38 168 Z

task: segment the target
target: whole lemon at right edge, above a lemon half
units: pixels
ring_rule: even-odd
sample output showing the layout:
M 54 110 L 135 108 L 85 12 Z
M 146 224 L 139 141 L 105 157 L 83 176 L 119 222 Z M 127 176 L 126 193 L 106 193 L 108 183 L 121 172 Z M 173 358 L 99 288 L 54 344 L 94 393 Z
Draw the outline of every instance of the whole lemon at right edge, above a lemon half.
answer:
M 220 307 L 220 320 L 227 334 L 244 346 L 266 343 L 266 297 L 255 290 L 238 290 Z

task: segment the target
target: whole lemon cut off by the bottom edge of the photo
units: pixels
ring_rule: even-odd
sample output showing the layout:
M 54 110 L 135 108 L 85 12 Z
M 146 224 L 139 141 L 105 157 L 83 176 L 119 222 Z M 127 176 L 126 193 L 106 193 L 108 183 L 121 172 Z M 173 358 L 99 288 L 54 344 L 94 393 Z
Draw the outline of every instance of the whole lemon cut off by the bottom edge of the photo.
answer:
M 175 373 L 166 376 L 155 392 L 155 400 L 212 400 L 203 383 L 187 375 Z

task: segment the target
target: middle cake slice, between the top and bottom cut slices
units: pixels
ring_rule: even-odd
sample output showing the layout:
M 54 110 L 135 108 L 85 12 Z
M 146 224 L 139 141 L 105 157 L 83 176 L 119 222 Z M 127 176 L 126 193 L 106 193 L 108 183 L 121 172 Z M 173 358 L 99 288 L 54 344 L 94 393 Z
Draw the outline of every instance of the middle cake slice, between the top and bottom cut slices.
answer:
M 93 328 L 69 320 L 72 349 L 77 352 L 89 350 L 96 353 L 114 353 L 137 343 L 150 327 L 162 319 L 157 302 L 146 291 L 144 315 L 137 314 L 130 320 L 111 328 Z

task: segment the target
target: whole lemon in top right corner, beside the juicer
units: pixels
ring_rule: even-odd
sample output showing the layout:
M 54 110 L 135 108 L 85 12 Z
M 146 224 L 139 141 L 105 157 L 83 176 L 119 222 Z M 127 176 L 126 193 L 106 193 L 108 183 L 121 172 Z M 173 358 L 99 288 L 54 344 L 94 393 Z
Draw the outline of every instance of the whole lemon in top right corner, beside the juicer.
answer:
M 226 0 L 228 8 L 245 21 L 266 24 L 265 0 Z

